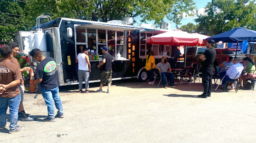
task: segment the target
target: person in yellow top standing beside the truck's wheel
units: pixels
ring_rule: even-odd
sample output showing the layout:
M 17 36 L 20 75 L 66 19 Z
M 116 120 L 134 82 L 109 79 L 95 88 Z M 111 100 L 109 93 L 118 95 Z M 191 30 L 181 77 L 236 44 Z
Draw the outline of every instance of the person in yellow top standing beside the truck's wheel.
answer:
M 155 66 L 154 60 L 154 51 L 150 51 L 149 54 L 146 56 L 146 65 L 145 69 L 148 71 L 148 84 L 153 84 L 153 72 Z

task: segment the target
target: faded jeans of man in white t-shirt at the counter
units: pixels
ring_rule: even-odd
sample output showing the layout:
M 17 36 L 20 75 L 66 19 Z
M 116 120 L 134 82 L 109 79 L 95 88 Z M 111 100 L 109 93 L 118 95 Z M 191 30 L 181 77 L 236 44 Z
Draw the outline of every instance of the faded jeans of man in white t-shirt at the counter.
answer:
M 89 90 L 89 71 L 88 70 L 80 70 L 78 69 L 78 82 L 79 82 L 79 90 L 82 89 L 82 80 L 85 82 L 85 90 Z

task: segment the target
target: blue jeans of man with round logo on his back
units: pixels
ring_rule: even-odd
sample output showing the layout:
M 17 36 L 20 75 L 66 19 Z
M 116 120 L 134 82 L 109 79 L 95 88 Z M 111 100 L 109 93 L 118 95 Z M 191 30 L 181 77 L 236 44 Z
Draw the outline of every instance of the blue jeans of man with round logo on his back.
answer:
M 44 89 L 41 87 L 42 97 L 45 100 L 45 104 L 47 105 L 48 110 L 48 117 L 54 118 L 54 104 L 53 100 L 55 102 L 55 106 L 58 109 L 57 114 L 62 115 L 63 114 L 63 108 L 62 103 L 60 100 L 60 97 L 58 95 L 58 86 L 53 89 Z

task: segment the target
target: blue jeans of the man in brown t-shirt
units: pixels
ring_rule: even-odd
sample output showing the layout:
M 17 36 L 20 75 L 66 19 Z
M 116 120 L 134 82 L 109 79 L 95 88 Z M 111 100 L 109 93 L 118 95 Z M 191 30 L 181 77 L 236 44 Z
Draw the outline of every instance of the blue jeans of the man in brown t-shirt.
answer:
M 6 124 L 6 111 L 9 106 L 10 112 L 10 125 L 9 128 L 14 130 L 17 127 L 18 122 L 18 106 L 20 103 L 20 93 L 12 98 L 0 97 L 0 126 Z

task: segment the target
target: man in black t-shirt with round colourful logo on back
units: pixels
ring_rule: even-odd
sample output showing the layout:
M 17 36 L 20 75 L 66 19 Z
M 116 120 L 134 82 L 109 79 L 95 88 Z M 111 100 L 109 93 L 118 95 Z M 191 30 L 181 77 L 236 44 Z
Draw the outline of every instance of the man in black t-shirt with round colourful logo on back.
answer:
M 52 57 L 43 56 L 40 49 L 32 49 L 30 55 L 40 64 L 36 67 L 36 74 L 34 84 L 40 83 L 40 89 L 42 96 L 45 100 L 48 110 L 48 117 L 44 118 L 43 121 L 55 121 L 55 117 L 62 118 L 63 108 L 62 102 L 58 95 L 58 82 L 57 82 L 57 68 L 56 62 Z M 54 104 L 58 109 L 56 116 L 54 117 Z

